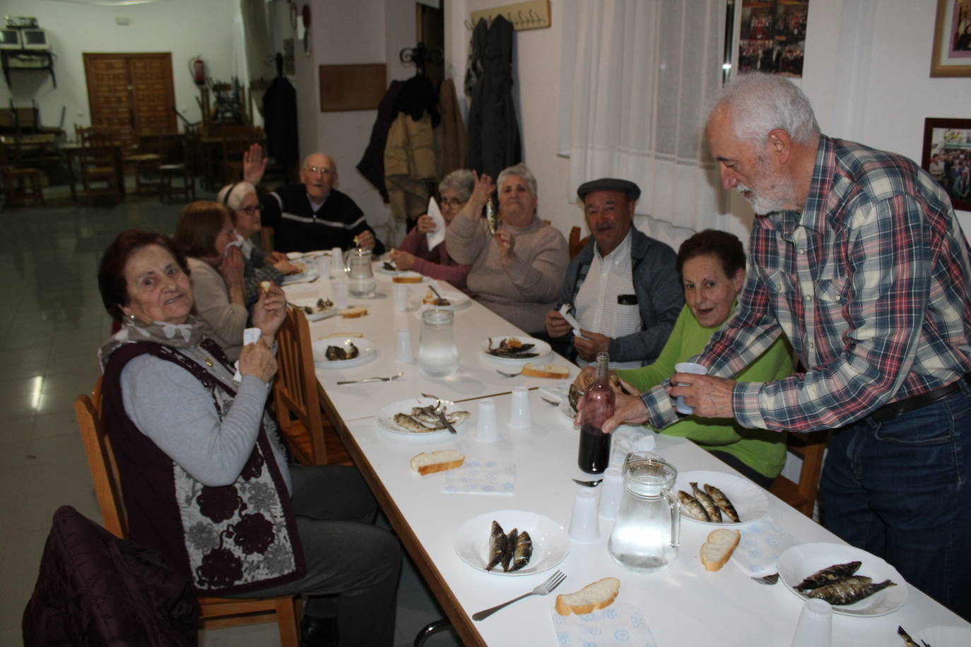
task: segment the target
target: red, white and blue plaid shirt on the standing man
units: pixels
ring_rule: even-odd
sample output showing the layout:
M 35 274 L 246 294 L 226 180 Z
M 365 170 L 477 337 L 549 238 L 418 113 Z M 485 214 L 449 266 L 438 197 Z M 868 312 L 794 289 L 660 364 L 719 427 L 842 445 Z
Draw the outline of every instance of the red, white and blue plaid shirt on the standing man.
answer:
M 807 371 L 737 383 L 735 419 L 842 427 L 971 371 L 969 255 L 911 160 L 823 136 L 805 208 L 755 218 L 739 305 L 697 361 L 731 377 L 785 334 Z M 658 428 L 677 420 L 663 386 L 642 400 Z

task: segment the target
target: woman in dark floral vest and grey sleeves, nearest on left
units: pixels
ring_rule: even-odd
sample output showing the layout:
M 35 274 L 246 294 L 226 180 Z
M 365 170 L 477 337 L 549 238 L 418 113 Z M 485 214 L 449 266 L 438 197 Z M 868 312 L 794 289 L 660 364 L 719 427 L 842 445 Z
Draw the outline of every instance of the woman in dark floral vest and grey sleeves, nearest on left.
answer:
M 338 628 L 342 645 L 393 644 L 397 540 L 371 525 L 377 505 L 354 469 L 287 465 L 266 408 L 283 291 L 256 303 L 262 339 L 243 348 L 237 382 L 192 314 L 187 272 L 171 240 L 137 230 L 98 271 L 122 323 L 99 359 L 131 538 L 200 594 L 308 596 L 303 644 L 331 644 L 321 632 Z

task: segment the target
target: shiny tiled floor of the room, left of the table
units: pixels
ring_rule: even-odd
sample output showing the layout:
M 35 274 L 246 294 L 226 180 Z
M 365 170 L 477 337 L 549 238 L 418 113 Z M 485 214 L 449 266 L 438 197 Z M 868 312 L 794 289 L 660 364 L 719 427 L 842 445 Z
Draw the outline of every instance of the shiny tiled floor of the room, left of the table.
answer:
M 122 229 L 171 233 L 179 206 L 129 198 L 83 207 L 51 192 L 49 205 L 0 211 L 0 647 L 19 646 L 20 615 L 37 577 L 50 518 L 71 504 L 100 521 L 74 418 L 74 398 L 98 375 L 95 351 L 110 319 L 96 280 L 102 250 Z M 205 197 L 205 196 L 203 196 Z M 397 645 L 442 616 L 408 564 L 398 590 Z M 204 647 L 279 644 L 276 625 L 204 631 Z M 457 644 L 451 632 L 429 647 Z

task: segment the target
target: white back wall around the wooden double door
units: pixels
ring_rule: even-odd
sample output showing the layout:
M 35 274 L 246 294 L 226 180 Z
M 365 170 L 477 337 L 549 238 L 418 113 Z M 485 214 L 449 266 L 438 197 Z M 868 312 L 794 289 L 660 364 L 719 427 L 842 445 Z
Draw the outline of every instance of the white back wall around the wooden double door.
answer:
M 189 121 L 198 121 L 199 93 L 189 76 L 188 61 L 202 54 L 209 76 L 229 80 L 234 69 L 232 29 L 237 6 L 234 0 L 168 0 L 124 7 L 4 0 L 0 13 L 36 16 L 48 32 L 57 87 L 45 72 L 12 72 L 12 87 L 0 84 L 0 106 L 8 107 L 11 96 L 19 108 L 29 107 L 33 99 L 40 105 L 45 126 L 58 125 L 61 107 L 65 107 L 63 127 L 73 138 L 75 123 L 90 125 L 83 52 L 169 51 L 176 108 Z M 116 16 L 126 16 L 131 23 L 118 25 Z

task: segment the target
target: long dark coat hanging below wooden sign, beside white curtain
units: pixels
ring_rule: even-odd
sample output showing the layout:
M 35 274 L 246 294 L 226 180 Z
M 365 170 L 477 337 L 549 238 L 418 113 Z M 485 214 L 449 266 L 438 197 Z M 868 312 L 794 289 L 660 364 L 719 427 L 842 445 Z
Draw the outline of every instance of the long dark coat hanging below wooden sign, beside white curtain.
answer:
M 477 25 L 477 29 L 479 25 Z M 495 178 L 522 161 L 513 104 L 513 23 L 496 16 L 488 27 L 483 75 L 472 88 L 466 168 Z

